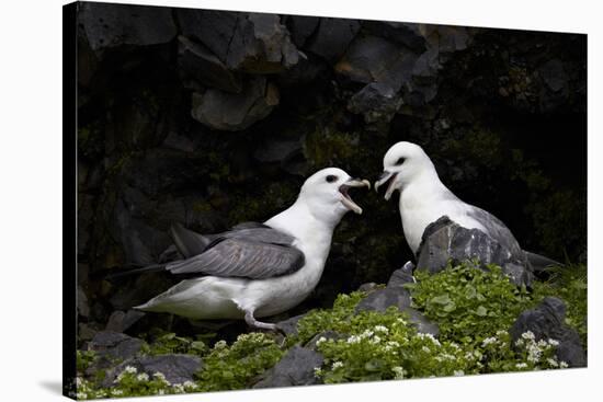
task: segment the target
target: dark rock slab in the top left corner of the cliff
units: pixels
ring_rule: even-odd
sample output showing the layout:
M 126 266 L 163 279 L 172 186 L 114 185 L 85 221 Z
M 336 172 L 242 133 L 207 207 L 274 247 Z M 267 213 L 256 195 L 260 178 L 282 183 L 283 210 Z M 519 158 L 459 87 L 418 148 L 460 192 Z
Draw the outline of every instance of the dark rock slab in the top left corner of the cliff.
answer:
M 80 22 L 93 50 L 170 42 L 177 27 L 169 8 L 82 2 Z

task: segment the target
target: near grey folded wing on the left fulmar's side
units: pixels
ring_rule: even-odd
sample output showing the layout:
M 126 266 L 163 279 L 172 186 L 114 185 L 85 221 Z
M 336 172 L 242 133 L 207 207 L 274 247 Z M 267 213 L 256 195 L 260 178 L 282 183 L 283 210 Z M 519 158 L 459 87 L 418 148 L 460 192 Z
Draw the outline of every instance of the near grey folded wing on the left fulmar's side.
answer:
M 291 245 L 223 238 L 202 254 L 170 263 L 166 269 L 172 274 L 265 279 L 294 273 L 304 263 L 304 253 Z

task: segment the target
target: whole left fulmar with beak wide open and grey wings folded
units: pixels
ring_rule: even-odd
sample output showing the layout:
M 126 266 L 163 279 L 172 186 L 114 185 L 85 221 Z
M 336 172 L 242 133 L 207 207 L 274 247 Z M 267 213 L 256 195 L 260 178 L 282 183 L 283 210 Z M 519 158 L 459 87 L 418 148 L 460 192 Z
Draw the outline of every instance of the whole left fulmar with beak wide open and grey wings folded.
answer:
M 193 320 L 244 318 L 252 328 L 275 330 L 275 324 L 255 318 L 286 311 L 314 290 L 334 228 L 348 211 L 362 214 L 349 188 L 363 186 L 371 185 L 328 168 L 306 180 L 289 208 L 263 223 L 246 222 L 209 236 L 173 227 L 172 238 L 184 260 L 136 271 L 167 269 L 196 277 L 136 309 Z

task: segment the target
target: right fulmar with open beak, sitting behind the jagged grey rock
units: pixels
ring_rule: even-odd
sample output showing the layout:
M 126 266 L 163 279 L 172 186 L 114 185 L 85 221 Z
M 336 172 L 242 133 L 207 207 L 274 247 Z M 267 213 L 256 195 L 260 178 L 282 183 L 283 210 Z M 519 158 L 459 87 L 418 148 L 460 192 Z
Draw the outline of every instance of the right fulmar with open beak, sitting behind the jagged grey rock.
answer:
M 400 192 L 399 208 L 405 238 L 416 255 L 420 252 L 428 226 L 447 216 L 463 228 L 486 233 L 515 260 L 527 261 L 537 268 L 558 264 L 545 256 L 523 251 L 500 219 L 455 196 L 440 181 L 433 162 L 418 145 L 406 141 L 394 145 L 385 154 L 383 164 L 384 172 L 375 183 L 375 191 L 387 184 L 385 199 L 389 199 L 395 191 Z

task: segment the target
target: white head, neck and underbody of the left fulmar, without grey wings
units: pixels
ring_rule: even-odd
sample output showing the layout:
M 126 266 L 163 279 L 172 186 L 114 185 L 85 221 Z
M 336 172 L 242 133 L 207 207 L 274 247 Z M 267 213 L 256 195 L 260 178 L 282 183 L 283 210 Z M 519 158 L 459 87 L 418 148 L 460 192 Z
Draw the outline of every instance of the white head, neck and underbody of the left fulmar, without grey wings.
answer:
M 274 329 L 254 317 L 277 314 L 308 297 L 322 275 L 334 228 L 349 210 L 362 213 L 346 188 L 367 184 L 351 179 L 341 169 L 323 169 L 305 182 L 289 208 L 264 222 L 295 238 L 292 245 L 303 252 L 304 265 L 292 274 L 262 279 L 220 276 L 186 279 L 137 309 L 195 320 L 246 318 L 253 326 Z

